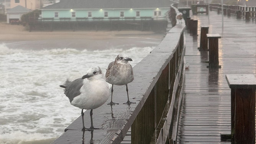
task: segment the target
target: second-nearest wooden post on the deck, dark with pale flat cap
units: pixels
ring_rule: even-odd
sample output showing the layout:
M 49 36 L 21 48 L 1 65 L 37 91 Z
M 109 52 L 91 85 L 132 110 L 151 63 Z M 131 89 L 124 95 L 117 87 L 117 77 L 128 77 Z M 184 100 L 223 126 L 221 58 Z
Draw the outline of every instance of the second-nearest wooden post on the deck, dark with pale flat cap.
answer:
M 221 38 L 220 34 L 206 34 L 209 39 L 209 68 L 216 68 L 219 66 L 218 54 L 218 39 Z

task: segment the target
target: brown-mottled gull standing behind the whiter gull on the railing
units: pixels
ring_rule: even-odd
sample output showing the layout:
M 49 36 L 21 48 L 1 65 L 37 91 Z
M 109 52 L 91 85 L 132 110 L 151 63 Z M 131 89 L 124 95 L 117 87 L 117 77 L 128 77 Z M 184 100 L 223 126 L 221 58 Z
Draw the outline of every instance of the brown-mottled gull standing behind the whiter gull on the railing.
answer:
M 106 72 L 106 81 L 110 84 L 112 84 L 111 88 L 111 102 L 108 103 L 108 105 L 115 105 L 119 103 L 113 103 L 112 97 L 113 97 L 113 85 L 126 85 L 126 92 L 127 92 L 127 102 L 123 104 L 128 104 L 130 105 L 131 102 L 129 100 L 129 95 L 128 95 L 128 86 L 127 83 L 130 83 L 133 81 L 133 68 L 129 64 L 129 61 L 133 61 L 129 56 L 126 54 L 118 54 L 117 57 L 115 58 L 115 61 L 110 62 L 108 65 L 108 69 Z

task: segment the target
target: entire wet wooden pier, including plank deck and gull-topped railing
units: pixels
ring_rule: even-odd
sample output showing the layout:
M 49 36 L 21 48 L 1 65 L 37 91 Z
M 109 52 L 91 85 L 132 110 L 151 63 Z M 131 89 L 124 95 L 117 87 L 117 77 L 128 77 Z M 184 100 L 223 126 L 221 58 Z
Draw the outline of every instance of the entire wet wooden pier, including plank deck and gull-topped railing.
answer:
M 183 21 L 133 68 L 129 94 L 136 104 L 103 105 L 93 116 L 95 127 L 102 129 L 82 132 L 79 117 L 52 144 L 231 144 L 235 116 L 226 75 L 256 75 L 256 24 L 225 16 L 222 28 L 217 11 L 190 17 L 198 21 L 199 35 L 190 34 Z M 221 67 L 207 67 L 208 51 L 198 49 L 201 26 L 220 35 Z M 125 102 L 125 96 L 125 87 L 116 86 L 115 101 Z M 88 116 L 86 111 L 85 127 Z

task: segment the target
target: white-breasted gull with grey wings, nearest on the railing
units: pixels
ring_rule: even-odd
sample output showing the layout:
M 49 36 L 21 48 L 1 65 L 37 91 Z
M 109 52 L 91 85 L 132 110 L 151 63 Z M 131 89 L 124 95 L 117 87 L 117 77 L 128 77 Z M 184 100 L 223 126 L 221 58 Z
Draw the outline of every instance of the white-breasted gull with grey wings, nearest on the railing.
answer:
M 82 131 L 99 129 L 93 126 L 92 110 L 103 105 L 110 95 L 110 88 L 100 67 L 91 67 L 82 78 L 75 79 L 72 82 L 67 80 L 60 87 L 65 88 L 64 94 L 69 98 L 71 105 L 82 109 Z M 84 110 L 91 110 L 91 126 L 89 129 L 84 126 Z

